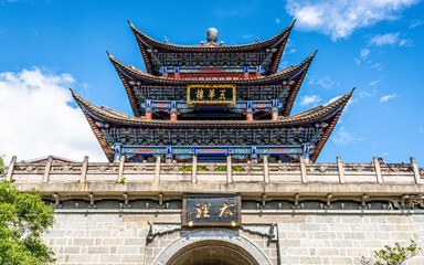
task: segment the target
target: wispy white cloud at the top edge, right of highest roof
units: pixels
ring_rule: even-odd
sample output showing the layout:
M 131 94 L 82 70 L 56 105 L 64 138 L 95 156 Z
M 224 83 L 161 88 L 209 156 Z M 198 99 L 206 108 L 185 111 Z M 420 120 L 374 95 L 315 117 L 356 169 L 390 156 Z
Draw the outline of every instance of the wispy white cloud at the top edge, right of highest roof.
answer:
M 357 29 L 383 20 L 395 20 L 399 13 L 418 0 L 288 0 L 286 11 L 304 30 L 319 31 L 333 41 L 348 38 Z

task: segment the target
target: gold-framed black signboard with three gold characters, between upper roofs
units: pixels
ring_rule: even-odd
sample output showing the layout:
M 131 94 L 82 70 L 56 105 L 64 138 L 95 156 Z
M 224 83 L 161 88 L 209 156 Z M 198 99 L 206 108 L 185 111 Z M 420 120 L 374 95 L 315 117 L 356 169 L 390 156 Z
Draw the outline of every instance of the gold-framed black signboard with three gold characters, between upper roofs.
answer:
M 187 103 L 235 104 L 235 85 L 189 85 Z

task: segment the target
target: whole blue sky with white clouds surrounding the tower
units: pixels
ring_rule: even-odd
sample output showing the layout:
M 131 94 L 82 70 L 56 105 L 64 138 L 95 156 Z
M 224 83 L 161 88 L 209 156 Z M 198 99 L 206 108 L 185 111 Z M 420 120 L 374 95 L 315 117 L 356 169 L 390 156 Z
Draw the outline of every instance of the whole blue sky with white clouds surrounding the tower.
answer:
M 424 165 L 424 3 L 316 1 L 1 1 L 0 155 L 105 161 L 73 87 L 96 105 L 132 114 L 105 51 L 145 68 L 127 20 L 151 38 L 198 44 L 266 40 L 297 19 L 280 68 L 316 49 L 293 114 L 357 87 L 318 162 Z

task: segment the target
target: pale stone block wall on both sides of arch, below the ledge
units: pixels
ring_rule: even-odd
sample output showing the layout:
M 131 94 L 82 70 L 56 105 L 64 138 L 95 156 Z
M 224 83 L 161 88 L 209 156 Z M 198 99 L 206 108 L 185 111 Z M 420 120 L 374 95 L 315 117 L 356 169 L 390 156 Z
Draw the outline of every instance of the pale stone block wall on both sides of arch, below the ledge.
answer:
M 56 264 L 155 264 L 157 256 L 192 230 L 147 240 L 148 221 L 178 223 L 178 214 L 56 213 L 44 235 Z M 278 239 L 234 231 L 257 246 L 272 264 L 356 264 L 362 255 L 394 242 L 415 240 L 424 246 L 424 214 L 248 214 L 243 222 L 277 224 Z M 424 264 L 422 254 L 409 265 Z

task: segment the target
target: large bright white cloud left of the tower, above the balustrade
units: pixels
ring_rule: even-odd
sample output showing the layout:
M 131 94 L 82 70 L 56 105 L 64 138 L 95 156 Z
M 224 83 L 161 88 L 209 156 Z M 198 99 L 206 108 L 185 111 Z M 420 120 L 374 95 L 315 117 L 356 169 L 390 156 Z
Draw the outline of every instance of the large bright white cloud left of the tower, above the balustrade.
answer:
M 49 155 L 73 160 L 105 161 L 83 113 L 73 102 L 70 74 L 55 75 L 40 68 L 0 73 L 0 155 L 18 160 Z

